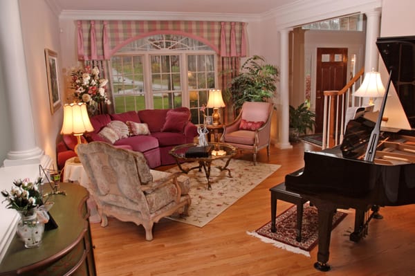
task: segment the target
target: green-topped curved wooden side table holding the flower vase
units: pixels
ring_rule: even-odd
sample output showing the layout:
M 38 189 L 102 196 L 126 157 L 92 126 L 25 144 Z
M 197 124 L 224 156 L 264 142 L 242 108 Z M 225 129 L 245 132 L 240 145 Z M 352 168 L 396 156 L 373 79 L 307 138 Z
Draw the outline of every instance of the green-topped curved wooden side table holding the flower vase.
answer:
M 26 249 L 19 237 L 12 238 L 0 262 L 0 275 L 95 276 L 93 241 L 85 201 L 88 191 L 80 185 L 61 183 L 66 196 L 53 194 L 50 214 L 57 228 L 44 232 L 38 248 Z M 45 185 L 45 192 L 51 192 Z

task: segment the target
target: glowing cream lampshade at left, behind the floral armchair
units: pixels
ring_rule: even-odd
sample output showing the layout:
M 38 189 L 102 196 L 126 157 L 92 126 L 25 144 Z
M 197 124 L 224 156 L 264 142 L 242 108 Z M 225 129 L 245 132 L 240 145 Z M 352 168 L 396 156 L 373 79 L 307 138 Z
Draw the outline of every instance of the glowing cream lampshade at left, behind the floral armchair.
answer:
M 61 134 L 80 135 L 91 131 L 93 127 L 86 110 L 86 103 L 65 104 Z

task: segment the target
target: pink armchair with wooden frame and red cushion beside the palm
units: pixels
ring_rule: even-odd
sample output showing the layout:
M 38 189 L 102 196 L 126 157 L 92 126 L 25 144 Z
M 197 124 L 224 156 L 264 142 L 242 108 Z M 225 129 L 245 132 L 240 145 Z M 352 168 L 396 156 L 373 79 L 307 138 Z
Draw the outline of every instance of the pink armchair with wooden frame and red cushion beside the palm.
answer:
M 244 102 L 234 122 L 223 127 L 221 142 L 253 151 L 254 165 L 257 164 L 257 152 L 266 147 L 269 160 L 273 110 L 270 102 Z

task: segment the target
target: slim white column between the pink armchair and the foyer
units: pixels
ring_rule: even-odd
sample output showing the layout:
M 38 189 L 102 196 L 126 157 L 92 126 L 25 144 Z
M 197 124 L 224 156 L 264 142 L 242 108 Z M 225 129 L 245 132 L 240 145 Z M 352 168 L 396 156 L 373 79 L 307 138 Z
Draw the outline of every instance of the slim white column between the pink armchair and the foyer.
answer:
M 289 141 L 289 34 L 290 29 L 279 30 L 280 53 L 279 53 L 279 88 L 280 88 L 280 109 L 279 112 L 279 149 L 291 149 L 293 146 Z

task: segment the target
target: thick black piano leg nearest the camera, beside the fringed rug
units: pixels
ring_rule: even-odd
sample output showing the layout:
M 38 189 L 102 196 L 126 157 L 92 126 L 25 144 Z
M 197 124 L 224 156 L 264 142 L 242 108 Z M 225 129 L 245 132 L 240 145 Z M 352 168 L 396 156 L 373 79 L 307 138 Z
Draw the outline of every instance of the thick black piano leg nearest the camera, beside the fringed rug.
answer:
M 318 210 L 318 252 L 317 262 L 314 268 L 320 271 L 329 271 L 329 248 L 331 239 L 331 226 L 333 224 L 333 215 L 336 210 L 335 205 L 327 201 L 313 201 Z

